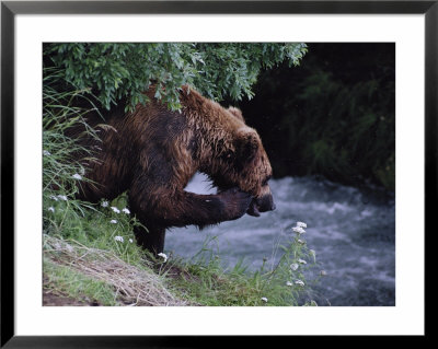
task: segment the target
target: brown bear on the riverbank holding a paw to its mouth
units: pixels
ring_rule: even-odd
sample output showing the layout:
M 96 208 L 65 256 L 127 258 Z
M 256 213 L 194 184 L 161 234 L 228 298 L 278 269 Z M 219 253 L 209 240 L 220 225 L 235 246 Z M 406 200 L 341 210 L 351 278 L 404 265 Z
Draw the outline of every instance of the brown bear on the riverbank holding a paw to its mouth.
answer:
M 134 228 L 137 242 L 154 254 L 163 251 L 168 228 L 201 229 L 274 210 L 269 160 L 242 113 L 188 86 L 180 91 L 181 110 L 171 112 L 154 98 L 154 89 L 145 92 L 146 105 L 106 116 L 101 142 L 90 143 L 94 161 L 81 197 L 99 201 L 127 191 L 130 212 L 147 228 Z M 196 172 L 209 176 L 216 195 L 184 190 Z

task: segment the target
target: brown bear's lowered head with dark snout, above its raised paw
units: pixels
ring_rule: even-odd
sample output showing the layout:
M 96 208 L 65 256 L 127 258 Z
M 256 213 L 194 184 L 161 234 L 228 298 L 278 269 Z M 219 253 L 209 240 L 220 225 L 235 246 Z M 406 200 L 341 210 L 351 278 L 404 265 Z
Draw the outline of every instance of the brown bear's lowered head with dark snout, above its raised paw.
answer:
M 241 114 L 237 117 L 243 120 Z M 268 184 L 273 170 L 258 133 L 244 123 L 239 124 L 227 146 L 215 156 L 220 164 L 214 167 L 220 170 L 210 177 L 219 191 L 239 187 L 250 193 L 253 200 L 246 213 L 258 217 L 260 212 L 275 209 Z

